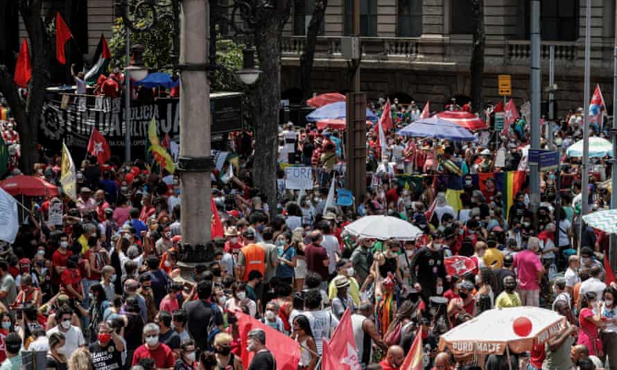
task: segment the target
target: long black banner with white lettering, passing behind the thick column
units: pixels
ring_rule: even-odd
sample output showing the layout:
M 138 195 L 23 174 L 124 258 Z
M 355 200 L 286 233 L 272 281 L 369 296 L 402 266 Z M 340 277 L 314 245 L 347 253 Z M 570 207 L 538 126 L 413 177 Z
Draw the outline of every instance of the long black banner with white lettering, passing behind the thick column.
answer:
M 62 99 L 62 96 L 59 96 Z M 81 100 L 85 99 L 85 100 Z M 60 100 L 44 103 L 39 127 L 39 143 L 46 149 L 59 152 L 62 141 L 67 144 L 77 163 L 86 155 L 92 129 L 105 136 L 112 155 L 124 157 L 125 109 L 121 98 L 96 101 L 94 97 L 70 96 L 65 105 Z M 241 130 L 241 94 L 211 94 L 211 134 Z M 130 142 L 132 159 L 144 158 L 146 136 L 152 118 L 157 123 L 159 139 L 168 134 L 173 141 L 180 141 L 180 100 L 157 99 L 154 103 L 132 100 L 130 107 Z

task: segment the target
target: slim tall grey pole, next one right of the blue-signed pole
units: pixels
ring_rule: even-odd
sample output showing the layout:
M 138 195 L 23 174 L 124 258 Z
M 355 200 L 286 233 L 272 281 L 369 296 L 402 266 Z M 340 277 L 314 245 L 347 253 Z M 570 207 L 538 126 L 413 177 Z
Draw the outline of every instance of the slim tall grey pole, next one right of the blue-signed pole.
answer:
M 582 231 L 583 220 L 582 216 L 587 214 L 589 210 L 589 78 L 591 75 L 590 69 L 591 58 L 591 0 L 586 0 L 585 10 L 585 84 L 584 84 L 584 116 L 583 116 L 583 161 L 582 161 L 582 188 L 581 188 L 581 207 L 580 207 L 580 229 L 578 233 L 579 249 L 582 247 Z

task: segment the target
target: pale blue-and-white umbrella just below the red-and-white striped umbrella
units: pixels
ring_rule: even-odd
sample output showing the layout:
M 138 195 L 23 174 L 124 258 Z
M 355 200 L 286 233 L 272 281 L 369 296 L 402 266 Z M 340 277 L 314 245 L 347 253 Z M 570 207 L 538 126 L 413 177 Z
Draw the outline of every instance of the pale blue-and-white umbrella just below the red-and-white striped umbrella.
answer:
M 400 135 L 416 137 L 433 137 L 436 139 L 449 139 L 455 141 L 476 141 L 469 130 L 460 127 L 452 121 L 447 121 L 437 116 L 421 118 L 406 125 L 399 131 Z

